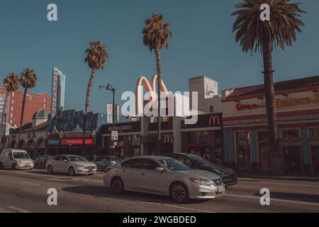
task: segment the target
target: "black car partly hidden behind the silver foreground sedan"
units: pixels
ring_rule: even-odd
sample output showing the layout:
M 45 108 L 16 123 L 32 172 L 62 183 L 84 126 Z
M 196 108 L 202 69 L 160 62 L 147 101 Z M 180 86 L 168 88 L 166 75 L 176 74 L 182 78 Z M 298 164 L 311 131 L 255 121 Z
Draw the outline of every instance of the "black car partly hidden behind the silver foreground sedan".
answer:
M 183 162 L 185 165 L 189 165 L 194 169 L 214 172 L 220 176 L 226 186 L 237 184 L 237 174 L 234 170 L 222 165 L 213 164 L 198 155 L 189 153 L 173 153 L 165 156 L 173 157 L 174 159 L 179 160 L 180 162 Z

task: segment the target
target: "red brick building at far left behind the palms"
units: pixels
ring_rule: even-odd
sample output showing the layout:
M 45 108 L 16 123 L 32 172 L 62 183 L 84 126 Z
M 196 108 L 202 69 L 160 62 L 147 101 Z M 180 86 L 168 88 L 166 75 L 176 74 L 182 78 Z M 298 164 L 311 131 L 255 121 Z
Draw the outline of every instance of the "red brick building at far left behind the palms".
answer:
M 4 99 L 6 89 L 0 87 L 0 123 L 2 123 L 2 113 L 4 110 Z M 23 91 L 12 92 L 8 99 L 6 122 L 11 127 L 20 126 L 20 117 L 23 101 Z M 32 121 L 33 114 L 40 109 L 51 109 L 51 96 L 47 93 L 31 93 L 26 96 L 26 108 L 24 110 L 23 124 Z

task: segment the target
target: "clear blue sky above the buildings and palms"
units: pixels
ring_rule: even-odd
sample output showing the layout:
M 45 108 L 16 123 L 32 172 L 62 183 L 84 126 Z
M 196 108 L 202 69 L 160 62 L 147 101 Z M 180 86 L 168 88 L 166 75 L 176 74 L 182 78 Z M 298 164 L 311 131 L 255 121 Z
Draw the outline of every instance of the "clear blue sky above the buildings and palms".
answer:
M 298 0 L 297 0 L 298 1 Z M 301 0 L 299 0 L 301 1 Z M 119 99 L 135 90 L 140 75 L 156 74 L 155 55 L 142 45 L 144 19 L 163 13 L 174 37 L 162 52 L 164 82 L 171 91 L 188 91 L 188 79 L 207 75 L 222 89 L 262 83 L 262 57 L 235 43 L 230 14 L 239 0 L 1 0 L 0 76 L 32 67 L 33 92 L 50 94 L 52 67 L 67 75 L 66 108 L 83 109 L 90 70 L 84 64 L 89 41 L 101 40 L 110 59 L 96 74 L 90 109 L 105 112 L 113 84 Z M 302 0 L 306 26 L 292 48 L 274 51 L 275 80 L 319 74 L 319 1 Z M 47 4 L 58 7 L 58 21 L 47 21 Z M 260 76 L 260 77 L 258 77 Z

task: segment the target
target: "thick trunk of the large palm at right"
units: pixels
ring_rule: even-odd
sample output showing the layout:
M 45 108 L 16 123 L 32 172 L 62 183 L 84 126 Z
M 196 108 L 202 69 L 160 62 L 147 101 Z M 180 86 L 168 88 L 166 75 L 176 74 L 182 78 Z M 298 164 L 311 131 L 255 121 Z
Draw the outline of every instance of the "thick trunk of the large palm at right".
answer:
M 264 92 L 266 96 L 268 120 L 270 167 L 273 175 L 281 175 L 281 155 L 279 153 L 278 125 L 274 99 L 272 43 L 267 40 L 264 42 L 262 49 L 264 58 Z

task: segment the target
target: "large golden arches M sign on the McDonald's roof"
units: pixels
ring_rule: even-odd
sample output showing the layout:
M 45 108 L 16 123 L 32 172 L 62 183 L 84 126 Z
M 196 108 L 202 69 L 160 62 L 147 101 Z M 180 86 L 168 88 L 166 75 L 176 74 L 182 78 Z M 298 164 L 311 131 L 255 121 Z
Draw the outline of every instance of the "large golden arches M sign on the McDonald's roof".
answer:
M 163 80 L 162 87 L 160 92 L 168 93 L 167 87 L 165 86 Z M 157 75 L 152 77 L 151 82 L 148 82 L 146 77 L 140 77 L 136 83 L 136 92 L 135 92 L 135 103 L 137 114 L 144 114 L 144 97 L 142 95 L 142 87 L 145 87 L 146 92 L 150 95 L 150 101 L 157 100 L 157 91 L 156 91 Z

